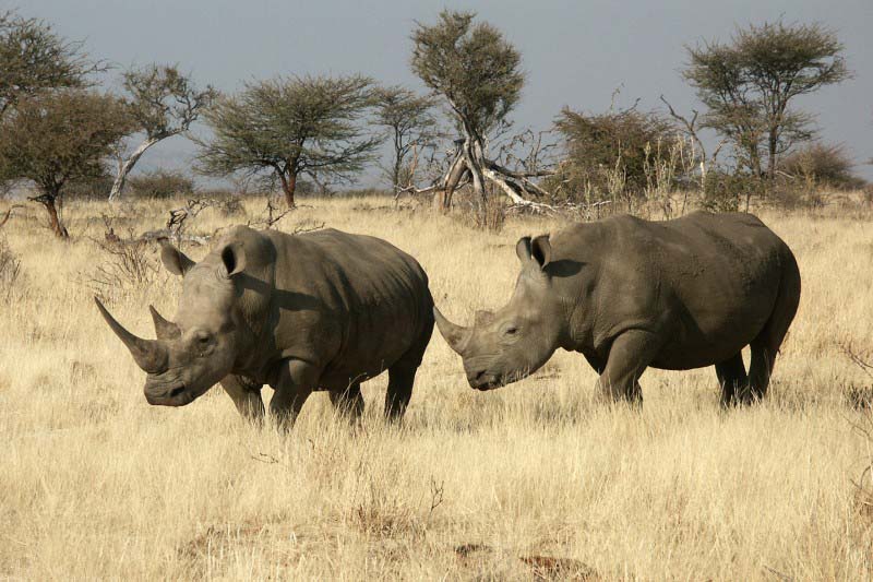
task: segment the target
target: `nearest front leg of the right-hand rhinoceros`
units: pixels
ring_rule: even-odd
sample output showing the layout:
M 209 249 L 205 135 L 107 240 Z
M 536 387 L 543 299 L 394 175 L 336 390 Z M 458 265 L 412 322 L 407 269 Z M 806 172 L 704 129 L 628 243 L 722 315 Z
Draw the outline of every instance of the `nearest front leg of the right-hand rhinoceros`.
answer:
M 622 333 L 612 342 L 607 365 L 597 383 L 600 393 L 613 401 L 642 404 L 639 377 L 660 349 L 657 337 L 642 330 Z

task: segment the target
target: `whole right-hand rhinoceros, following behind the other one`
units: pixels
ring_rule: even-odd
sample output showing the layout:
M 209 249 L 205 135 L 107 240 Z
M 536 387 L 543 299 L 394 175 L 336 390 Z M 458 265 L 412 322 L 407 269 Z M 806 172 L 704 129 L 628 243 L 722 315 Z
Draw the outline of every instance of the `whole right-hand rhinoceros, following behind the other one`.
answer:
M 642 403 L 647 367 L 714 365 L 721 402 L 748 403 L 765 395 L 800 300 L 794 256 L 751 214 L 613 216 L 524 237 L 515 251 L 522 269 L 509 305 L 477 312 L 473 328 L 434 307 L 478 390 L 528 376 L 560 347 L 585 356 L 607 400 Z

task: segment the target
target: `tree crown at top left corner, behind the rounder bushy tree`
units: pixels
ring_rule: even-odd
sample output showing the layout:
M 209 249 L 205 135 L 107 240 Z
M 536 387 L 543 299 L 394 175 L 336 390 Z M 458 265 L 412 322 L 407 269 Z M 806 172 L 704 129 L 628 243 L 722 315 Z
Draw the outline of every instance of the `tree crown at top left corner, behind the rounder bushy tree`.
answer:
M 61 38 L 50 24 L 0 13 L 0 119 L 24 98 L 84 86 L 91 73 L 104 69 L 88 59 L 81 43 Z

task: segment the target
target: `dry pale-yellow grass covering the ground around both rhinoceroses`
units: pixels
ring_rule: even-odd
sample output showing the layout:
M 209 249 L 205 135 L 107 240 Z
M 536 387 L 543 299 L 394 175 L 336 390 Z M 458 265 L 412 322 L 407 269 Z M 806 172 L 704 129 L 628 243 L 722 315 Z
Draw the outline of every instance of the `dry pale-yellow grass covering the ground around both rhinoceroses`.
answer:
M 513 218 L 494 235 L 384 199 L 306 203 L 279 227 L 323 222 L 394 242 L 461 322 L 507 299 L 518 236 L 560 227 Z M 159 228 L 172 206 L 116 209 L 127 216 L 116 231 Z M 191 229 L 262 207 L 206 211 Z M 762 212 L 798 257 L 803 296 L 755 406 L 720 409 L 704 369 L 649 370 L 642 412 L 608 407 L 567 353 L 477 393 L 434 333 L 402 427 L 382 423 L 380 377 L 364 384 L 359 427 L 316 393 L 285 436 L 247 426 L 219 389 L 184 408 L 148 406 L 92 295 L 152 336 L 147 305 L 172 316 L 178 280 L 162 270 L 101 286 L 111 258 L 88 237 L 103 240 L 107 207 L 68 206 L 72 242 L 37 211 L 3 228 L 21 270 L 0 298 L 0 577 L 873 577 L 873 499 L 856 486 L 873 447 L 854 428 L 870 426 L 871 379 L 842 347 L 873 349 L 873 213 Z M 146 258 L 157 264 L 153 248 Z

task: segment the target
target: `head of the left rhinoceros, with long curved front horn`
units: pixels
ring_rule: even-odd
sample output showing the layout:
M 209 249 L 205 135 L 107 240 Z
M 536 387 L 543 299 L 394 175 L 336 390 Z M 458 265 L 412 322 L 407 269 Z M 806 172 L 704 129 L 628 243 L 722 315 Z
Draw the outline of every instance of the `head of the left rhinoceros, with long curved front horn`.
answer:
M 241 320 L 235 305 L 234 277 L 244 269 L 246 254 L 241 246 L 231 242 L 194 263 L 166 240 L 162 240 L 162 247 L 164 265 L 184 280 L 176 322 L 165 320 L 150 306 L 156 340 L 133 335 L 95 300 L 106 322 L 146 372 L 148 403 L 184 406 L 227 376 L 237 359 Z

